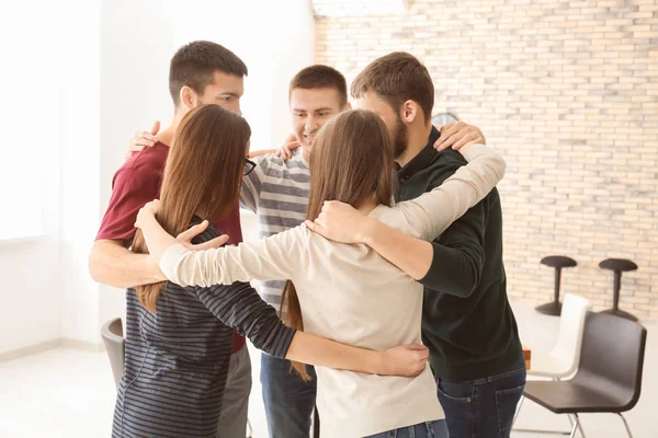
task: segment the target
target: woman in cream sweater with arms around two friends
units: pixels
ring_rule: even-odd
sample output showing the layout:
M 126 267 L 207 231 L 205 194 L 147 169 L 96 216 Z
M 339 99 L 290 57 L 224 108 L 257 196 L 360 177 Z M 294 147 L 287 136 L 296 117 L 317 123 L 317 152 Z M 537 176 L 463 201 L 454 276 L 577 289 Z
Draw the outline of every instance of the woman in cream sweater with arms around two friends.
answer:
M 341 200 L 382 222 L 432 240 L 500 181 L 504 162 L 474 145 L 469 163 L 434 191 L 390 206 L 394 146 L 377 115 L 349 111 L 318 134 L 310 157 L 308 218 L 327 200 Z M 258 242 L 194 251 L 169 235 L 149 203 L 137 218 L 163 274 L 182 285 L 230 285 L 290 279 L 288 323 L 355 346 L 385 349 L 421 342 L 422 286 L 365 245 L 326 240 L 302 224 Z M 429 267 L 431 253 L 427 261 Z M 296 366 L 304 373 L 302 367 Z M 428 367 L 416 378 L 316 368 L 318 413 L 326 438 L 358 438 L 404 429 L 416 437 L 447 437 Z

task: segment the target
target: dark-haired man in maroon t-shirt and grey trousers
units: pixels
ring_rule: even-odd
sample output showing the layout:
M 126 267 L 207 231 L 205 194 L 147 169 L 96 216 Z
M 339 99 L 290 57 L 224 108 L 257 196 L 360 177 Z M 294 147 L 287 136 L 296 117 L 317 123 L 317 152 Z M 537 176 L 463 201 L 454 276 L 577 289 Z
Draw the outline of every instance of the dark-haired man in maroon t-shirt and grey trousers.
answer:
M 135 235 L 137 212 L 146 203 L 160 195 L 169 145 L 185 114 L 204 104 L 217 104 L 241 114 L 240 97 L 245 76 L 245 62 L 218 44 L 194 42 L 175 53 L 169 70 L 169 92 L 174 104 L 173 119 L 154 139 L 156 141 L 152 148 L 133 154 L 114 175 L 110 205 L 89 257 L 89 272 L 95 281 L 129 288 L 159 280 L 159 268 L 149 255 L 135 254 L 128 250 Z M 242 240 L 237 203 L 215 227 L 229 235 L 228 242 L 231 244 Z M 245 438 L 250 391 L 249 353 L 245 338 L 234 333 L 234 354 L 217 437 Z

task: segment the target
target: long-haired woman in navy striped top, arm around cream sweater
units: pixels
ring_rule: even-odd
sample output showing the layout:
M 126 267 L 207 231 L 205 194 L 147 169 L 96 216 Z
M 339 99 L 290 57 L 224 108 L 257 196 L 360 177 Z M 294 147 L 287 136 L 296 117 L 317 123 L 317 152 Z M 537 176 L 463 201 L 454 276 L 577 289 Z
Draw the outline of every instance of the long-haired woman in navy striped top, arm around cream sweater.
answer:
M 238 198 L 249 125 L 207 105 L 181 123 L 162 182 L 158 215 L 180 233 L 201 218 L 215 222 Z M 205 222 L 196 226 L 205 229 Z M 208 228 L 195 242 L 211 247 Z M 138 232 L 133 251 L 147 247 Z M 247 283 L 181 287 L 162 281 L 128 289 L 125 370 L 113 437 L 215 437 L 231 353 L 232 328 L 273 356 L 337 369 L 413 376 L 424 368 L 420 345 L 383 351 L 344 346 L 285 326 Z

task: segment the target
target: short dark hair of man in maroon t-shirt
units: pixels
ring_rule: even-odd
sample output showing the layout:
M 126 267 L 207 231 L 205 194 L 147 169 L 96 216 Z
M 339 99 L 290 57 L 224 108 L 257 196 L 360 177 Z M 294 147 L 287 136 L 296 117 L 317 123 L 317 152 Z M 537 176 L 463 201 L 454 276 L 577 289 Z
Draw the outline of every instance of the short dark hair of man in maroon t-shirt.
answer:
M 183 87 L 202 94 L 213 82 L 215 71 L 246 77 L 247 66 L 236 54 L 217 43 L 196 41 L 179 48 L 169 65 L 169 93 L 173 105 L 180 103 Z

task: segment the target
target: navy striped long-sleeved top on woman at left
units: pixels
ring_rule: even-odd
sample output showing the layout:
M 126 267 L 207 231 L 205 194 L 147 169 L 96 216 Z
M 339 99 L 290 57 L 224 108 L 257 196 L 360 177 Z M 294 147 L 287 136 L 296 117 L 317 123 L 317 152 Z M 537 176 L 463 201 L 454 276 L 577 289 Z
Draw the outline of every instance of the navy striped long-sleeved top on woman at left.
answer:
M 194 243 L 220 233 L 208 228 Z M 180 287 L 169 283 L 157 312 L 126 291 L 126 359 L 112 437 L 215 437 L 232 328 L 284 358 L 295 335 L 249 284 Z

